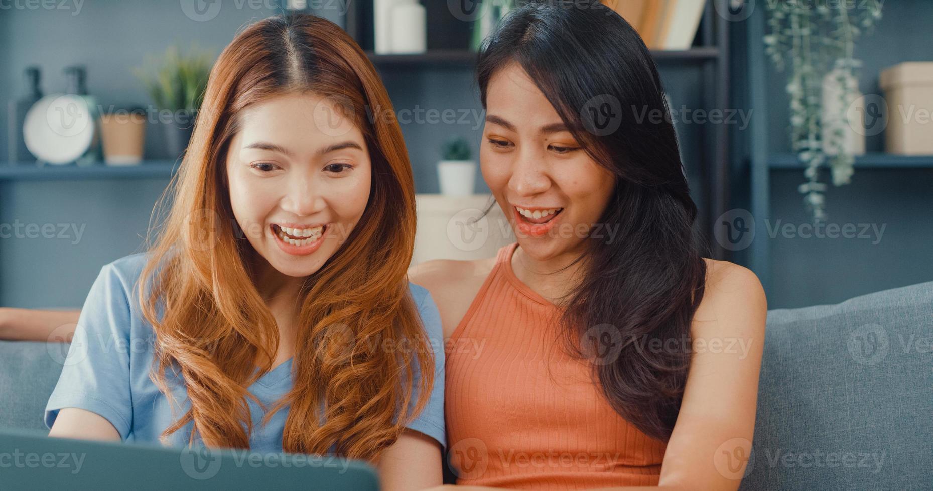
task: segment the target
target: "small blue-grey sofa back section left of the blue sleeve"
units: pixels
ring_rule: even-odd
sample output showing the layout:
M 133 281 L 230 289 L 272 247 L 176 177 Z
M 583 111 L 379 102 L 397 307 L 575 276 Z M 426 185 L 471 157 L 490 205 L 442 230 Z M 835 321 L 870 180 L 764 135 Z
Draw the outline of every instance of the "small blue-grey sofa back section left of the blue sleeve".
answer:
M 0 427 L 46 430 L 46 402 L 68 343 L 0 341 Z

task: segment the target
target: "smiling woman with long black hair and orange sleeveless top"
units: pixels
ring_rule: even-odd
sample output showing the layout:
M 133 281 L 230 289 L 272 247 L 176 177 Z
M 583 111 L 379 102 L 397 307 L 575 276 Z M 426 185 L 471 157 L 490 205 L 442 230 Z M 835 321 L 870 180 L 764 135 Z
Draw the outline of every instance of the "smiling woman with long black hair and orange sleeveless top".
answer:
M 481 171 L 518 241 L 410 271 L 448 338 L 457 484 L 738 488 L 765 295 L 703 257 L 674 128 L 639 119 L 667 111 L 648 48 L 602 5 L 532 4 L 478 76 Z

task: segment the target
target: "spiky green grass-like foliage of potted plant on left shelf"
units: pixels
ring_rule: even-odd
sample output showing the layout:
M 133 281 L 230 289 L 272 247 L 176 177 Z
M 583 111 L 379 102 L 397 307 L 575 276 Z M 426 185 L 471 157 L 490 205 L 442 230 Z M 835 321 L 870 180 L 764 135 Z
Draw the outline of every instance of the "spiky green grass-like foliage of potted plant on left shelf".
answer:
M 192 48 L 182 55 L 178 47 L 169 47 L 161 57 L 146 57 L 146 64 L 132 68 L 146 86 L 152 102 L 162 110 L 197 113 L 214 64 L 209 51 Z

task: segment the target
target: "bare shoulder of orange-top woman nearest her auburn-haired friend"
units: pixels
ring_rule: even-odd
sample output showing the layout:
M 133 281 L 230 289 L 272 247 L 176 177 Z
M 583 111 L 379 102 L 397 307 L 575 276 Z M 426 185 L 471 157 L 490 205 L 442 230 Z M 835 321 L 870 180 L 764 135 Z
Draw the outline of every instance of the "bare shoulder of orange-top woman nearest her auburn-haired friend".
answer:
M 434 259 L 409 268 L 409 281 L 431 293 L 440 311 L 444 337 L 450 337 L 495 266 L 495 258 Z

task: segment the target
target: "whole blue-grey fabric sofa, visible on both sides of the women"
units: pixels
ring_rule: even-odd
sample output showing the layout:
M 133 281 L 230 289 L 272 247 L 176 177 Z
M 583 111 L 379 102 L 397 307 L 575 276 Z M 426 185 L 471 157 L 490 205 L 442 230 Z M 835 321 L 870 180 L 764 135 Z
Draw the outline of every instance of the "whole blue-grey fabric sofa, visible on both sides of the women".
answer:
M 62 344 L 0 342 L 0 426 L 44 429 Z M 933 489 L 933 281 L 768 312 L 742 489 Z

